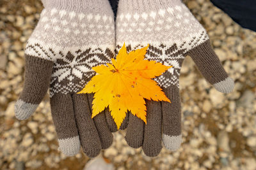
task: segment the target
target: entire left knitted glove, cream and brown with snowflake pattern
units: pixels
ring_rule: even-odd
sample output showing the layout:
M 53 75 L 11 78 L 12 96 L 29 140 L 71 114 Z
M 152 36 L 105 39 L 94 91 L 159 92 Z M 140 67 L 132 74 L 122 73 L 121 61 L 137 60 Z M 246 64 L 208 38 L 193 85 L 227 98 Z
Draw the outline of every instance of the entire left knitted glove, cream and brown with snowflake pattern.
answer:
M 92 95 L 77 94 L 93 66 L 114 57 L 115 22 L 108 0 L 42 0 L 45 9 L 26 45 L 26 72 L 15 115 L 25 120 L 50 87 L 52 119 L 61 152 L 82 146 L 95 157 L 113 142 L 104 113 L 91 118 Z M 111 117 L 109 113 L 106 113 Z

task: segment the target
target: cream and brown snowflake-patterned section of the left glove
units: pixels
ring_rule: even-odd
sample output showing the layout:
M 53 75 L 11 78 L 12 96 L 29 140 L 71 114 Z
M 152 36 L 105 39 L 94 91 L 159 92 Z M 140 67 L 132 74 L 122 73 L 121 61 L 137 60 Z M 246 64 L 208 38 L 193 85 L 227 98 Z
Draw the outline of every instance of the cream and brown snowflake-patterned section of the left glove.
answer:
M 54 62 L 50 96 L 79 92 L 95 75 L 92 67 L 114 57 L 113 13 L 44 9 L 26 45 L 26 55 Z M 107 38 L 102 38 L 103 36 Z

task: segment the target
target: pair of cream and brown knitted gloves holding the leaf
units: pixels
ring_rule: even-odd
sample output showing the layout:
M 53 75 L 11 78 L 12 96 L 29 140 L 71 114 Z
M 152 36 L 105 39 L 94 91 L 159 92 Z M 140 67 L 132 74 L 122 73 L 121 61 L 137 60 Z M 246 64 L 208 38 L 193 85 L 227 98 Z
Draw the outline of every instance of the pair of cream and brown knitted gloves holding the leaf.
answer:
M 182 142 L 179 76 L 190 55 L 218 91 L 228 93 L 228 77 L 211 48 L 205 29 L 180 0 L 120 0 L 116 22 L 108 0 L 42 0 L 44 10 L 26 45 L 26 73 L 15 105 L 19 120 L 29 118 L 50 87 L 52 119 L 61 152 L 72 156 L 81 146 L 88 157 L 111 146 L 116 125 L 108 109 L 91 118 L 93 94 L 77 94 L 95 75 L 93 66 L 111 62 L 122 45 L 148 44 L 146 58 L 173 66 L 155 80 L 172 103 L 146 101 L 147 125 L 131 113 L 121 129 L 133 148 L 154 157 Z M 116 24 L 116 27 L 115 27 Z

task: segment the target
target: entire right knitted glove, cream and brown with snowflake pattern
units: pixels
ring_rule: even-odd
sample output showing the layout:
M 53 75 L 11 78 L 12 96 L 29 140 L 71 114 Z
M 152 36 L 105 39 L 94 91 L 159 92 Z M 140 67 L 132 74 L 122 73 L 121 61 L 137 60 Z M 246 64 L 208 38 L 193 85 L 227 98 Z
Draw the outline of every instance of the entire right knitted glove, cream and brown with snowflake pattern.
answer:
M 177 150 L 182 141 L 179 76 L 186 55 L 218 91 L 231 92 L 234 81 L 212 50 L 205 29 L 180 0 L 120 0 L 116 48 L 124 42 L 129 51 L 149 44 L 148 60 L 173 66 L 155 79 L 172 103 L 147 101 L 147 125 L 130 113 L 125 139 L 133 148 L 142 146 L 146 155 L 154 157 L 161 151 L 163 133 L 164 146 Z

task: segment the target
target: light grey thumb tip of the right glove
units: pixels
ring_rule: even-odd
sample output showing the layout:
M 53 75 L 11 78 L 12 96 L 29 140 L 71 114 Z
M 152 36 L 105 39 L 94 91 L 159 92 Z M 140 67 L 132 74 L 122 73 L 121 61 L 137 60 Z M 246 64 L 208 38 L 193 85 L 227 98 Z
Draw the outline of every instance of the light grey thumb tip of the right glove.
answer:
M 228 77 L 223 81 L 215 83 L 213 86 L 219 92 L 227 94 L 227 93 L 230 93 L 233 91 L 233 89 L 235 87 L 235 83 L 234 83 L 234 80 L 232 80 L 232 78 Z

